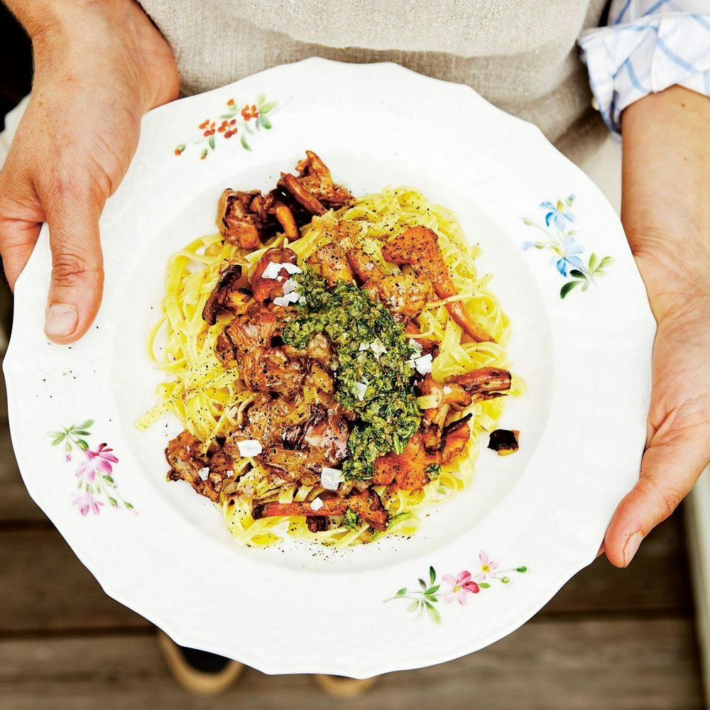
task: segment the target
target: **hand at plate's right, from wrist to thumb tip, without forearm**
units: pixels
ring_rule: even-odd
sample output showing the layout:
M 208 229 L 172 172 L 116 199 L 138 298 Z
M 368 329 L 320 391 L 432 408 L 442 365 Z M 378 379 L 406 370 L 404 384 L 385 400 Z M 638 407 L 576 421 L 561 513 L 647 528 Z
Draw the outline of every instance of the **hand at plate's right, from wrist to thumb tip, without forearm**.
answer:
M 619 503 L 604 538 L 606 556 L 617 567 L 626 567 L 710 460 L 710 274 L 695 273 L 694 281 L 685 282 L 655 256 L 637 253 L 636 260 L 655 294 L 651 306 L 658 328 L 640 478 Z

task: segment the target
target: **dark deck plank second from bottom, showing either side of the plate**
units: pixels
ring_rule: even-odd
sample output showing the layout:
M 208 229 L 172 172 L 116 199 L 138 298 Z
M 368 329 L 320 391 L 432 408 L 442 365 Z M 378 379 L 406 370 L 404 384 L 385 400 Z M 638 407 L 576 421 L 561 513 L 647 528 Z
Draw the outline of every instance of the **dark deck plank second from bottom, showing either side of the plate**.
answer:
M 654 613 L 687 616 L 687 567 L 670 521 L 652 533 L 626 570 L 598 559 L 569 581 L 538 616 Z M 54 528 L 0 532 L 0 633 L 144 628 L 109 599 Z M 673 574 L 659 574 L 672 569 Z

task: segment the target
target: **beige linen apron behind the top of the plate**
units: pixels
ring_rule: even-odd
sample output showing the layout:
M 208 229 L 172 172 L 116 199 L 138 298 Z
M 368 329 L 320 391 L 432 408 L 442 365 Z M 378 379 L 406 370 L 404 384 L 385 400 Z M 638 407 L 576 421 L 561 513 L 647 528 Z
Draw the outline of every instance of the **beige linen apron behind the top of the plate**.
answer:
M 397 62 L 469 84 L 573 160 L 604 136 L 579 33 L 606 0 L 141 0 L 192 94 L 307 57 Z M 327 87 L 322 87 L 327 90 Z M 317 89 L 315 89 L 317 90 Z

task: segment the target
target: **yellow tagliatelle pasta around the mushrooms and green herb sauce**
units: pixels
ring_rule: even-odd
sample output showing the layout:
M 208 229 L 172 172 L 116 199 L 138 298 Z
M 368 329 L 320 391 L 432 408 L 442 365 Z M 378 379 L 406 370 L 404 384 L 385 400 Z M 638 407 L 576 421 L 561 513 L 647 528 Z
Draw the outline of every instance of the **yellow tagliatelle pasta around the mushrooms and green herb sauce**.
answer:
M 158 404 L 137 422 L 140 429 L 151 426 L 165 413 L 172 413 L 187 430 L 203 442 L 204 451 L 225 432 L 244 420 L 244 413 L 256 394 L 239 377 L 238 364 L 225 367 L 214 353 L 224 322 L 210 326 L 202 311 L 217 284 L 225 261 L 243 263 L 251 269 L 266 249 L 288 246 L 298 258 L 307 259 L 320 247 L 337 241 L 344 249 L 358 248 L 383 273 L 394 274 L 400 267 L 383 258 L 386 239 L 410 226 L 425 226 L 438 236 L 439 248 L 458 294 L 445 300 L 430 300 L 418 316 L 422 337 L 439 345 L 432 376 L 442 382 L 475 368 L 508 368 L 505 345 L 509 322 L 489 288 L 490 275 L 476 272 L 479 246 L 471 246 L 459 222 L 449 209 L 426 200 L 413 187 L 397 187 L 356 198 L 349 207 L 313 217 L 301 229 L 300 239 L 290 243 L 278 234 L 262 249 L 244 251 L 222 241 L 220 234 L 200 237 L 175 253 L 168 263 L 162 315 L 148 338 L 148 352 L 170 379 L 158 388 Z M 403 267 L 410 271 L 410 267 Z M 466 312 L 495 342 L 474 342 L 462 338 L 461 326 L 449 315 L 446 304 L 460 301 Z M 513 376 L 511 394 L 523 385 Z M 271 517 L 254 520 L 253 501 L 313 501 L 323 492 L 317 486 L 298 483 L 274 485 L 263 466 L 251 457 L 234 464 L 234 481 L 225 486 L 217 503 L 236 540 L 245 545 L 271 545 L 284 535 L 326 545 L 369 542 L 382 535 L 413 535 L 420 526 L 417 510 L 429 503 L 441 503 L 461 491 L 471 481 L 478 457 L 478 438 L 495 429 L 506 398 L 474 401 L 461 415 L 471 414 L 471 437 L 464 455 L 441 466 L 435 480 L 416 491 L 373 486 L 389 517 L 388 528 L 373 531 L 360 520 L 355 527 L 332 526 L 312 532 L 303 517 Z

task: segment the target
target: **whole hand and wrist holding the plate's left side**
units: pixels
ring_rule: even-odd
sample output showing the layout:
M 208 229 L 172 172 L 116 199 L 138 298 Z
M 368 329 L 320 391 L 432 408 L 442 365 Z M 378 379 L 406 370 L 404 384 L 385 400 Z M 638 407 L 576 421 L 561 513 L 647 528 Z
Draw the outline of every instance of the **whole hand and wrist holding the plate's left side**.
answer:
M 71 343 L 101 302 L 104 202 L 129 167 L 143 113 L 177 97 L 178 71 L 133 0 L 9 4 L 31 35 L 35 76 L 0 172 L 0 253 L 14 288 L 48 222 L 45 333 Z

